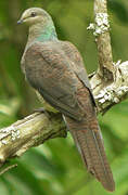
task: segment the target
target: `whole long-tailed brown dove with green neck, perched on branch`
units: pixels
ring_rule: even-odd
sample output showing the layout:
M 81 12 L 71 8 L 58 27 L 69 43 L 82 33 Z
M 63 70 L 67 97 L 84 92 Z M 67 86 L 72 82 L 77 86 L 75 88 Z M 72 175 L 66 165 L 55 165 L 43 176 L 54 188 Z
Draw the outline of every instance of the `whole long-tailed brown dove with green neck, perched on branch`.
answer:
M 77 48 L 60 40 L 51 15 L 41 8 L 25 10 L 17 22 L 28 26 L 28 40 L 21 60 L 27 82 L 62 113 L 81 159 L 106 191 L 115 190 L 97 105 Z

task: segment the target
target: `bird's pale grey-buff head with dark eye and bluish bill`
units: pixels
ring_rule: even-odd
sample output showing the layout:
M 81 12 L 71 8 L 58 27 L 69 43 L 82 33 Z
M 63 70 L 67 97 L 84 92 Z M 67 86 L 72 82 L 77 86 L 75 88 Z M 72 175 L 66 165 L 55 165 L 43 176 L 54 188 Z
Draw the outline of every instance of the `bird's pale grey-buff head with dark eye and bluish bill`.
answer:
M 23 12 L 20 21 L 17 21 L 17 24 L 25 23 L 28 26 L 31 26 L 40 22 L 46 23 L 50 18 L 50 15 L 44 10 L 40 8 L 30 8 Z

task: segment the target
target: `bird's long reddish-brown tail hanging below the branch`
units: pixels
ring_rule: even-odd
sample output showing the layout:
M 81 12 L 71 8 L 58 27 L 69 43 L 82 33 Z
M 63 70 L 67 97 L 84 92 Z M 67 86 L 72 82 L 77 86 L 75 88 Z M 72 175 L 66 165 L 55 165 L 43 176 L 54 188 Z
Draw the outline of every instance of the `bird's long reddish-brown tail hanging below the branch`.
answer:
M 113 192 L 115 183 L 106 159 L 97 117 L 93 116 L 91 121 L 87 119 L 76 121 L 65 116 L 65 120 L 88 171 L 102 183 L 104 188 Z

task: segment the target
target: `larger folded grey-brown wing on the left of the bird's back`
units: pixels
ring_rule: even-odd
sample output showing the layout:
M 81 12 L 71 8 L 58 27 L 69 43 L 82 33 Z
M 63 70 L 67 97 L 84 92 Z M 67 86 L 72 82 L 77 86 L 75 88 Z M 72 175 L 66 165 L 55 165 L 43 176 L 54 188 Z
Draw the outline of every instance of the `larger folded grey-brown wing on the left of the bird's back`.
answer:
M 63 114 L 80 120 L 85 115 L 75 93 L 79 79 L 74 62 L 59 42 L 35 42 L 24 55 L 26 78 L 51 105 Z

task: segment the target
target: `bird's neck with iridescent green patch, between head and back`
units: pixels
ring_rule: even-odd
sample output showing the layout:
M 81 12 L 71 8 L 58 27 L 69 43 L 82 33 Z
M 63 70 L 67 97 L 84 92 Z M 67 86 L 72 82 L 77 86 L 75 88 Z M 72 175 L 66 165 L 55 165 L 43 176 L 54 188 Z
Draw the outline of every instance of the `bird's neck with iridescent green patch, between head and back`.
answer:
M 29 27 L 27 46 L 29 46 L 34 41 L 44 42 L 49 40 L 57 40 L 55 27 L 52 22 L 47 24 L 46 26 L 39 23 Z

